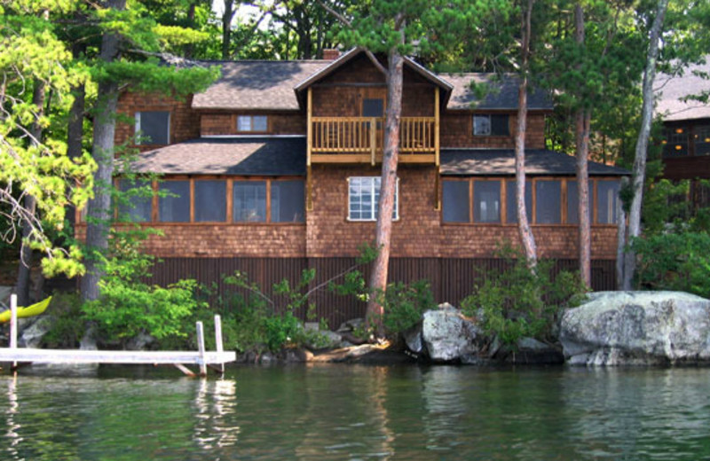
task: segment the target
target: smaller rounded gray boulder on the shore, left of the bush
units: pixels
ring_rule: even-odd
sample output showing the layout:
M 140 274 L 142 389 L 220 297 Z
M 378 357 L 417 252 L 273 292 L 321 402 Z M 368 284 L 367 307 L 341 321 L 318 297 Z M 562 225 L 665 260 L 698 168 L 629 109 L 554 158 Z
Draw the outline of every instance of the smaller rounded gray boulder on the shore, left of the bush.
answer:
M 476 324 L 448 303 L 424 312 L 421 346 L 433 362 L 455 362 L 462 356 L 475 355 L 478 350 L 476 340 L 480 335 Z M 412 338 L 407 341 L 410 342 L 414 342 Z

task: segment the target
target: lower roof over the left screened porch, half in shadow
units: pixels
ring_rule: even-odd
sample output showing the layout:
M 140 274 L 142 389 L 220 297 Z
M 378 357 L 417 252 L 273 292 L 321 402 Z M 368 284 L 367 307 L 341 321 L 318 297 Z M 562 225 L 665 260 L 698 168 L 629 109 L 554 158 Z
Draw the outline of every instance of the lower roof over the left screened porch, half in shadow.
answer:
M 141 152 L 137 173 L 170 175 L 305 175 L 304 137 L 201 137 Z

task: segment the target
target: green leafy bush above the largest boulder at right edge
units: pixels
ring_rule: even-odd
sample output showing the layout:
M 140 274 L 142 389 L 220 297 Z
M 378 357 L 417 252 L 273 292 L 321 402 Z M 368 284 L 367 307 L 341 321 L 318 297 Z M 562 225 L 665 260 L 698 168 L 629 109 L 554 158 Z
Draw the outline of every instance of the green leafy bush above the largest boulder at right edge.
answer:
M 636 282 L 651 290 L 677 290 L 710 298 L 710 235 L 679 230 L 636 238 Z

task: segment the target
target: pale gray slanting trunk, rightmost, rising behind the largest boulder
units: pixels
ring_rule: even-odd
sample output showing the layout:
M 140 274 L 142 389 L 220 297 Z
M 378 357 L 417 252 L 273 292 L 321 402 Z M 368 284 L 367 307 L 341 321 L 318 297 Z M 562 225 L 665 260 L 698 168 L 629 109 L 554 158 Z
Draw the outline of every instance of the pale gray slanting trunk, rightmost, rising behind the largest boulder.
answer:
M 636 140 L 633 182 L 634 199 L 631 201 L 631 210 L 628 217 L 627 243 L 641 234 L 641 206 L 643 204 L 643 184 L 646 179 L 646 156 L 648 155 L 649 137 L 651 136 L 651 121 L 653 120 L 653 80 L 656 76 L 656 60 L 659 56 L 659 38 L 663 29 L 663 20 L 666 16 L 668 0 L 659 0 L 656 17 L 651 26 L 651 39 L 649 51 L 646 55 L 646 67 L 643 71 L 643 106 L 641 109 L 641 129 Z M 624 290 L 631 289 L 631 280 L 634 277 L 636 254 L 627 246 L 624 255 Z

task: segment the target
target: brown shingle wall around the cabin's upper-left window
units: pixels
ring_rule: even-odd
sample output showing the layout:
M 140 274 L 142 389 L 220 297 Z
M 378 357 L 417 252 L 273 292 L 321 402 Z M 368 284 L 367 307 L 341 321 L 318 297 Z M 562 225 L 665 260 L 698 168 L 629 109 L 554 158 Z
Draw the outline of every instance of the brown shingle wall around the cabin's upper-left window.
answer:
M 170 112 L 170 144 L 182 143 L 200 137 L 200 115 L 191 109 L 193 97 L 174 99 L 158 94 L 122 92 L 118 98 L 118 121 L 115 144 L 122 145 L 135 136 L 136 112 Z M 132 142 L 130 143 L 132 145 Z M 141 152 L 152 150 L 156 145 L 138 145 Z

